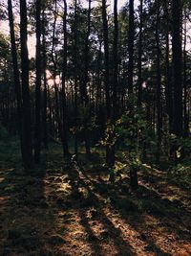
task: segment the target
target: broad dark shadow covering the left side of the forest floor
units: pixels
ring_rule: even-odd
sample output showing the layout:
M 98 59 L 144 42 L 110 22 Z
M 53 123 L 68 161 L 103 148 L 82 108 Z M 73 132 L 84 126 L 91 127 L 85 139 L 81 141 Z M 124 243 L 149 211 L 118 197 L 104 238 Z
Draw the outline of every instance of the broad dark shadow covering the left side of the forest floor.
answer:
M 64 240 L 53 236 L 57 223 L 45 195 L 47 166 L 26 171 L 18 155 L 2 163 L 0 255 L 56 255 L 53 251 Z

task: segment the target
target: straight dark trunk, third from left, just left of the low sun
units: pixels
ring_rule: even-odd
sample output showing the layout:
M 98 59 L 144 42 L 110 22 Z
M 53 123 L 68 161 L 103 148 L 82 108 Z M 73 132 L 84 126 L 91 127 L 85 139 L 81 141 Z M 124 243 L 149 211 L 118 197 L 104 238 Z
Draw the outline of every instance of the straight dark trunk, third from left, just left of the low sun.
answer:
M 35 130 L 34 161 L 40 163 L 41 148 L 41 0 L 36 0 L 36 84 L 35 84 Z

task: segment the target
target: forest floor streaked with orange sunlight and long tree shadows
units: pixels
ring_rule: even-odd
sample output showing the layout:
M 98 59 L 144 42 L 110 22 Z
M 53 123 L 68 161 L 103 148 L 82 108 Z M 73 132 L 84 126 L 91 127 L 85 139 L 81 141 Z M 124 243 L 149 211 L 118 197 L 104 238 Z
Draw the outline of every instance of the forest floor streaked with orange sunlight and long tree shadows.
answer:
M 52 145 L 26 173 L 15 141 L 0 143 L 0 255 L 191 255 L 191 170 L 143 165 L 109 182 L 101 155 L 63 161 Z

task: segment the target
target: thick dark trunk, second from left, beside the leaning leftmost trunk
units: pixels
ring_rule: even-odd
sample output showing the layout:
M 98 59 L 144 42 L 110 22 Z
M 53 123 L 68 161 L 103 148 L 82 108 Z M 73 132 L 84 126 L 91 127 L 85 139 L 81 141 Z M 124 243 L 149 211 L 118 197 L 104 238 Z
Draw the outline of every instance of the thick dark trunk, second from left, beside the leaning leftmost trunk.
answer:
M 27 169 L 30 169 L 32 168 L 32 127 L 27 37 L 27 4 L 26 0 L 20 0 L 20 40 L 22 70 L 21 80 L 23 100 L 23 151 L 24 166 Z

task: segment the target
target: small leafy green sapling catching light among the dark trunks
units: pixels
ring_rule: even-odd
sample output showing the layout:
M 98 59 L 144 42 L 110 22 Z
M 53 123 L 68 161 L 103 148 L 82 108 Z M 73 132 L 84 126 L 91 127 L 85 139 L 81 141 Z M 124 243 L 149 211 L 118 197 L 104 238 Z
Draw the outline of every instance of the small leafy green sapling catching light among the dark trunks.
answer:
M 145 115 L 144 108 L 134 106 L 116 122 L 117 146 L 126 150 L 126 157 L 133 165 L 140 161 L 146 146 L 156 146 L 155 131 L 147 122 Z

